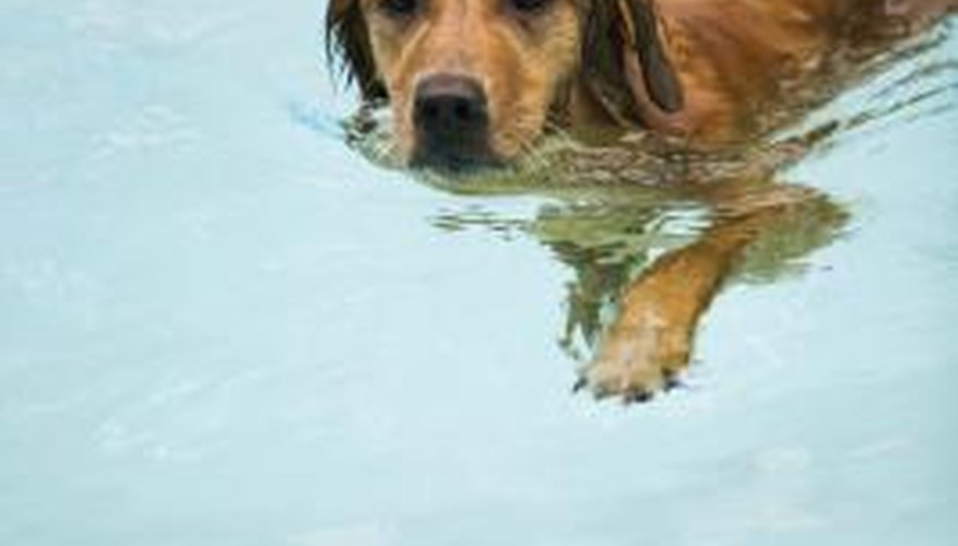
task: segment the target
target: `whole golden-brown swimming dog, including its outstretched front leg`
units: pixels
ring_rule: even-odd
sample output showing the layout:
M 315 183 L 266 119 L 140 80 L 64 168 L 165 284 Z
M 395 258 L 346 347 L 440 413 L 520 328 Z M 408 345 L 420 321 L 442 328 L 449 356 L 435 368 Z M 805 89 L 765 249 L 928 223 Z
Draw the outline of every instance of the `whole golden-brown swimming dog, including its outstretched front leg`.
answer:
M 326 32 L 328 54 L 342 59 L 363 99 L 389 104 L 401 159 L 460 171 L 512 163 L 554 128 L 646 132 L 688 150 L 734 146 L 843 43 L 909 34 L 956 8 L 958 0 L 330 0 Z M 580 387 L 636 401 L 672 383 L 744 249 L 823 201 L 788 185 L 714 185 L 702 194 L 717 222 L 623 290 Z

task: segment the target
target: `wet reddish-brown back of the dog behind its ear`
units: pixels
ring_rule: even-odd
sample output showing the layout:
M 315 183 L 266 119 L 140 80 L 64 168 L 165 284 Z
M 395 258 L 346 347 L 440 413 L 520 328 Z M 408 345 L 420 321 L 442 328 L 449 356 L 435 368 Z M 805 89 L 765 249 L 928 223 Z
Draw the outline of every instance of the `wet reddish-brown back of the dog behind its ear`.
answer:
M 790 84 L 818 71 L 849 41 L 923 24 L 956 5 L 956 0 L 659 0 L 661 32 L 685 107 L 669 115 L 638 102 L 653 129 L 700 142 L 728 141 L 752 132 L 757 109 L 786 99 Z

